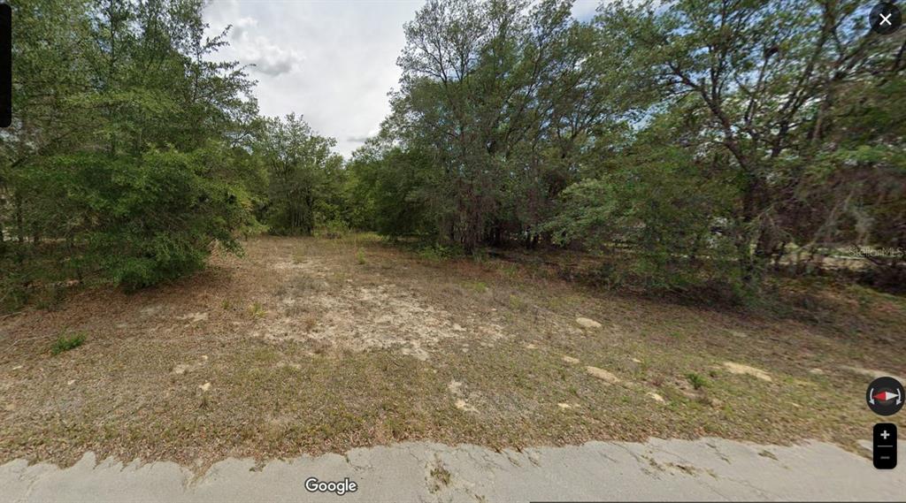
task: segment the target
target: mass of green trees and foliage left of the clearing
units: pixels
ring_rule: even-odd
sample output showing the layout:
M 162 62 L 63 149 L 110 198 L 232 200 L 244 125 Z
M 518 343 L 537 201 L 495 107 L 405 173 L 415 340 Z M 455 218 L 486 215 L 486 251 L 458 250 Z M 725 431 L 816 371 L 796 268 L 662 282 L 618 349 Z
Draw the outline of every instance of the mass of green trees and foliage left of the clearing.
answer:
M 216 245 L 239 251 L 262 185 L 244 144 L 257 109 L 237 63 L 213 61 L 225 34 L 205 36 L 203 4 L 12 6 L 5 307 L 73 279 L 138 289 L 201 269 Z

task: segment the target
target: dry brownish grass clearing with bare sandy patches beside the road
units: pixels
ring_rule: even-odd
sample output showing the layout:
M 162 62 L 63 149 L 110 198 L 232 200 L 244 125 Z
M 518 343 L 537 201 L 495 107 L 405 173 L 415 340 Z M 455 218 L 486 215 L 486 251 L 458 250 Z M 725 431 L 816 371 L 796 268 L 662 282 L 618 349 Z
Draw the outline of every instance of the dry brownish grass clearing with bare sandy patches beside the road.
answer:
M 855 449 L 877 418 L 870 378 L 846 367 L 906 374 L 906 304 L 870 290 L 805 287 L 781 317 L 621 297 L 540 265 L 424 260 L 368 236 L 246 251 L 177 284 L 0 320 L 0 462 L 91 450 L 199 466 L 418 439 Z M 82 346 L 51 355 L 76 332 Z

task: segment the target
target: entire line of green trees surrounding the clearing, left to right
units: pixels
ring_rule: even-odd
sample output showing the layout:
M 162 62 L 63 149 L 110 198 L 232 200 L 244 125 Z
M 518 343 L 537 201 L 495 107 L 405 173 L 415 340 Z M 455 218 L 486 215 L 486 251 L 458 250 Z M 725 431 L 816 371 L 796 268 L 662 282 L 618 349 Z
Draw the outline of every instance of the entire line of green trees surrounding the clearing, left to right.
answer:
M 842 248 L 906 280 L 906 32 L 872 33 L 863 2 L 606 2 L 580 22 L 569 0 L 429 0 L 346 163 L 301 118 L 259 116 L 203 0 L 12 5 L 2 306 L 347 227 L 568 246 L 659 289 L 757 293 Z

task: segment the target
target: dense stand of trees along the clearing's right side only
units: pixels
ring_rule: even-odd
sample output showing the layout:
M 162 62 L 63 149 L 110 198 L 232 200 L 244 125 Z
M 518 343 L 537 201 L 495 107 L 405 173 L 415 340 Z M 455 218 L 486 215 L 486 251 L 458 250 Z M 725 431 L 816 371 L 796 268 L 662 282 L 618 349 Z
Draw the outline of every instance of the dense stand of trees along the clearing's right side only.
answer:
M 906 45 L 869 5 L 570 6 L 419 11 L 392 114 L 350 165 L 362 223 L 466 251 L 582 245 L 671 289 L 755 292 L 772 263 L 843 246 L 906 278 Z

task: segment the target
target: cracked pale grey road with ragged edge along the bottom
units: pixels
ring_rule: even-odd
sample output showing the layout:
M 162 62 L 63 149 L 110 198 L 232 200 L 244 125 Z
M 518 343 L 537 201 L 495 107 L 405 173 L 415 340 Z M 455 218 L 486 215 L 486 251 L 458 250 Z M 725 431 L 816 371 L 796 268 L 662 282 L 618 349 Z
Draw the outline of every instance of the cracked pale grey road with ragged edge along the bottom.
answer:
M 354 481 L 355 492 L 309 492 L 305 480 Z M 93 454 L 64 470 L 0 466 L 0 501 L 595 501 L 681 499 L 903 500 L 906 471 L 880 471 L 826 443 L 589 442 L 495 452 L 409 442 L 256 469 L 223 460 L 198 477 L 170 462 L 123 466 Z

